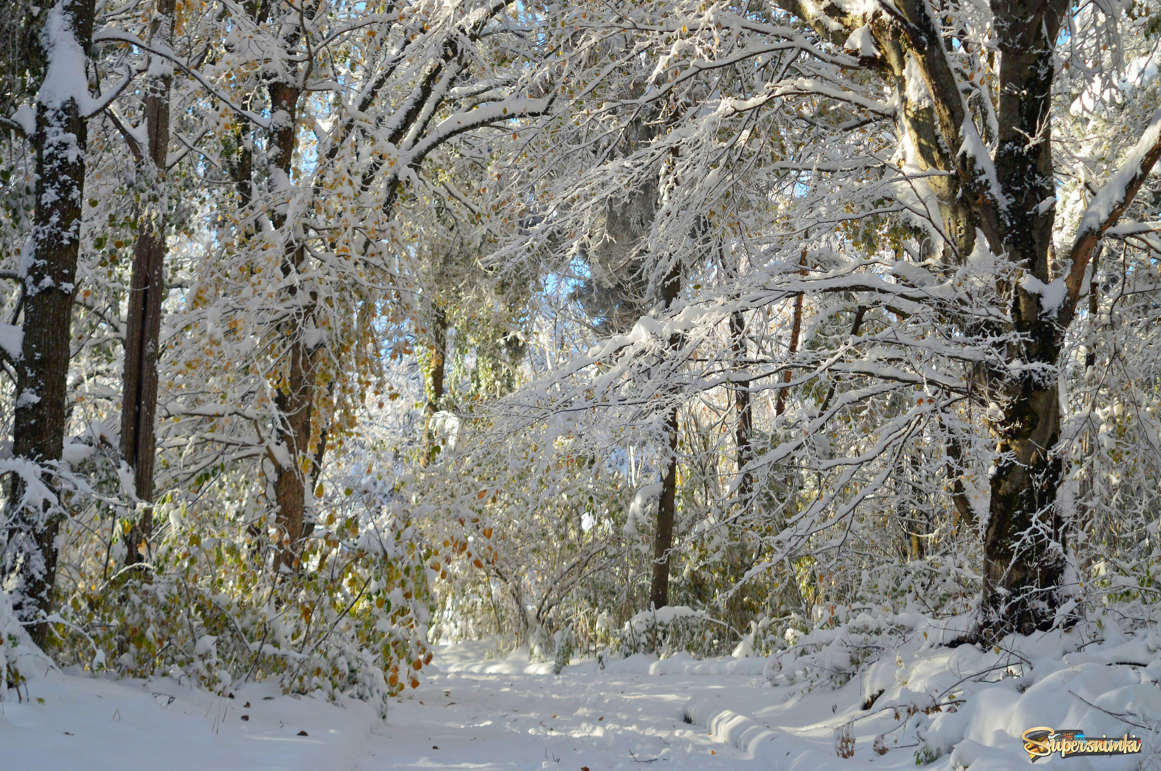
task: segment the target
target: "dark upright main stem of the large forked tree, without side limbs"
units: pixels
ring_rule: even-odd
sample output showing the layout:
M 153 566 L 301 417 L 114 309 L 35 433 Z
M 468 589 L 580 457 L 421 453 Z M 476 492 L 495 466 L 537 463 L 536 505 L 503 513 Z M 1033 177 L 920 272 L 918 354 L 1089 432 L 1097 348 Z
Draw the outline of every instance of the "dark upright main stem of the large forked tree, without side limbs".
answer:
M 994 3 L 1001 36 L 1000 139 L 995 167 L 1010 197 L 1003 246 L 1015 265 L 1047 284 L 1054 208 L 1051 143 L 1053 45 L 1067 3 L 1009 0 Z M 1036 137 L 1036 142 L 1030 142 Z M 1040 295 L 1012 287 L 1010 309 L 1022 341 L 1007 359 L 1058 367 L 1061 337 Z M 985 639 L 1008 632 L 1029 634 L 1051 627 L 1063 577 L 1063 528 L 1057 496 L 1061 460 L 1060 395 L 1055 379 L 1033 373 L 993 374 L 989 396 L 1003 413 L 993 423 L 997 437 L 991 502 L 983 540 L 981 632 Z

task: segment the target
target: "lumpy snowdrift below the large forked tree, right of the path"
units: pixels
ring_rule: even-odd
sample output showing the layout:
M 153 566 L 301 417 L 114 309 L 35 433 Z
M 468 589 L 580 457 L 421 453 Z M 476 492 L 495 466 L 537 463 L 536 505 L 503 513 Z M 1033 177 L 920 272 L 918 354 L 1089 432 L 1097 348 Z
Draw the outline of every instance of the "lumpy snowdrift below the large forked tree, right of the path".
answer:
M 774 693 L 692 698 L 685 719 L 774 769 L 1027 769 L 1034 727 L 1142 740 L 1140 754 L 1074 757 L 1079 771 L 1159 766 L 1155 628 L 1126 636 L 1103 615 L 991 648 L 944 644 L 968 621 L 864 615 L 816 629 L 766 661 Z

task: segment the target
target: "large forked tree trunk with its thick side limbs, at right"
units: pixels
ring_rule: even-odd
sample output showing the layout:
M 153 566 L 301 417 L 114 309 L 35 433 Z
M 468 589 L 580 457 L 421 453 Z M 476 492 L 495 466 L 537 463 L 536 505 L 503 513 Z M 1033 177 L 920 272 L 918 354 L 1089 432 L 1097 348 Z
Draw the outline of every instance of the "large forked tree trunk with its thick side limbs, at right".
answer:
M 1057 278 L 1050 275 L 1048 259 L 1054 222 L 1051 99 L 1053 48 L 1068 13 L 1066 0 L 991 2 L 1000 53 L 1000 82 L 995 89 L 998 136 L 991 159 L 973 154 L 982 153 L 980 143 L 969 145 L 966 140 L 980 130 L 966 109 L 947 57 L 951 42 L 936 27 L 937 19 L 926 3 L 897 0 L 897 19 L 886 14 L 872 14 L 871 19 L 828 6 L 823 13 L 830 19 L 824 19 L 813 6 L 796 0 L 779 2 L 810 22 L 820 35 L 838 42 L 872 22 L 881 51 L 875 66 L 894 80 L 902 100 L 896 120 L 901 136 L 907 136 L 914 150 L 909 158 L 921 171 L 940 172 L 928 185 L 939 200 L 944 223 L 942 273 L 962 265 L 975 246 L 975 233 L 982 232 L 991 253 L 1016 271 L 1015 278 L 1019 279 L 1019 271 L 1043 284 Z M 913 93 L 923 98 L 913 100 Z M 973 333 L 993 339 L 1015 334 L 1018 341 L 1001 353 L 1007 363 L 1021 362 L 1019 367 L 981 367 L 976 372 L 978 384 L 994 405 L 989 427 L 997 439 L 978 629 L 985 640 L 1014 631 L 1045 629 L 1054 621 L 1065 567 L 1057 502 L 1061 463 L 1053 456 L 1060 435 L 1054 373 L 1062 330 L 1070 322 L 1093 245 L 1132 200 L 1161 146 L 1154 151 L 1141 164 L 1142 173 L 1133 175 L 1133 187 L 1118 196 L 1123 206 L 1102 214 L 1101 223 L 1082 228 L 1079 233 L 1063 305 L 1045 308 L 1040 295 L 1017 281 L 1000 287 L 1010 297 L 1007 310 L 1011 323 L 981 326 L 965 318 Z M 979 163 L 989 161 L 994 178 L 979 171 Z

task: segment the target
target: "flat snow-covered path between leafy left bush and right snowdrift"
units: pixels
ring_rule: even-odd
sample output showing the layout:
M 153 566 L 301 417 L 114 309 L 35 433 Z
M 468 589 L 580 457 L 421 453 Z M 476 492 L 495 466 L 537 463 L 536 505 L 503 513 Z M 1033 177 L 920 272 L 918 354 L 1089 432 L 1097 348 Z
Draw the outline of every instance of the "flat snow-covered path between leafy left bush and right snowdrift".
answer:
M 391 704 L 360 771 L 666 771 L 736 769 L 747 755 L 685 722 L 691 697 L 752 687 L 751 676 L 601 671 L 596 663 L 555 676 L 519 655 L 442 671 Z M 619 662 L 618 662 L 619 663 Z

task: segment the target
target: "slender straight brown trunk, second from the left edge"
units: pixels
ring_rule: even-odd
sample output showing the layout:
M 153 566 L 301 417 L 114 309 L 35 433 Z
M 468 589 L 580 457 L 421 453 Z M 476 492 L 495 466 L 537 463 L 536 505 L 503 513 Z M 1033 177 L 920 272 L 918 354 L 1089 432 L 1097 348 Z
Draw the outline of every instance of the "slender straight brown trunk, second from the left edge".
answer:
M 152 41 L 170 48 L 173 37 L 174 0 L 158 0 Z M 165 237 L 168 209 L 166 157 L 170 151 L 170 86 L 167 66 L 156 67 L 145 81 L 144 121 L 149 146 L 138 172 L 150 189 L 142 225 L 134 246 L 134 274 L 129 290 L 129 323 L 125 361 L 121 381 L 121 454 L 134 469 L 137 497 L 153 502 L 154 418 L 157 415 L 158 337 L 161 332 L 161 301 L 165 297 Z M 153 70 L 151 70 L 153 72 Z M 153 511 L 146 507 L 129 538 L 127 564 L 145 559 L 153 532 Z

